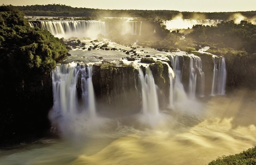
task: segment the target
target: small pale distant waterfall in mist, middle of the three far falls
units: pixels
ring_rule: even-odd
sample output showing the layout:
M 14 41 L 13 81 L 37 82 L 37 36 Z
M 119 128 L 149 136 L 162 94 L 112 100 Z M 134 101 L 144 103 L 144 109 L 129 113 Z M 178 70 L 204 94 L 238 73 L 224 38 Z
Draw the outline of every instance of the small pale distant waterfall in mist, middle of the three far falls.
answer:
M 141 21 L 125 21 L 122 26 L 122 34 L 141 35 Z

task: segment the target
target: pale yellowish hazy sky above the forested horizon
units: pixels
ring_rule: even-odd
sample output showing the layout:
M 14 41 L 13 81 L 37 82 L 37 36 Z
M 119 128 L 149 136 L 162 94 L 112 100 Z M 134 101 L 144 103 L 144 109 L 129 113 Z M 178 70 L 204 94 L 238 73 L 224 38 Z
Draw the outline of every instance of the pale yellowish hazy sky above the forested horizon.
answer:
M 252 11 L 256 0 L 0 0 L 0 4 L 66 4 L 99 9 L 142 9 L 178 11 Z

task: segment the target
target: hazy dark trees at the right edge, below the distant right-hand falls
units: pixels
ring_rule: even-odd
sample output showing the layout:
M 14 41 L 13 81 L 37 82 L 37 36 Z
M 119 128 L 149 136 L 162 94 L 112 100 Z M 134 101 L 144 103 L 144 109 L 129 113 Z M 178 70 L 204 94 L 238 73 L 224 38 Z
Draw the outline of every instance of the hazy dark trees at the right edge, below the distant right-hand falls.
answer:
M 199 42 L 210 42 L 218 48 L 245 49 L 256 51 L 256 25 L 247 21 L 235 24 L 234 21 L 221 22 L 217 26 L 193 26 L 188 37 Z

